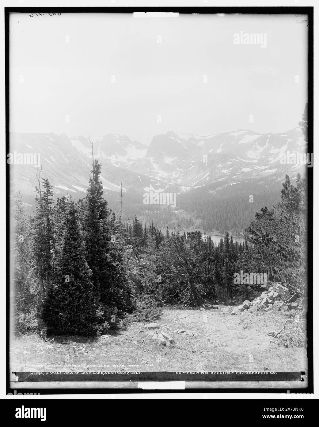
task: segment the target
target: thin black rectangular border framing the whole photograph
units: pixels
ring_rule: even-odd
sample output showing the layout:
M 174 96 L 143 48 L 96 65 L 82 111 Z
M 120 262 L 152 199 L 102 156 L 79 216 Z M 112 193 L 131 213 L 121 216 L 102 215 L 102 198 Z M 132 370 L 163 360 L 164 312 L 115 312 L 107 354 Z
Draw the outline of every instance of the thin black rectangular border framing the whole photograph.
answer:
M 308 15 L 308 152 L 313 153 L 313 7 L 298 6 L 201 6 L 201 7 L 5 7 L 5 84 L 6 84 L 6 153 L 9 152 L 9 15 L 13 13 L 130 13 L 133 12 L 178 12 L 179 14 L 245 14 L 245 15 Z M 313 393 L 313 167 L 307 168 L 308 174 L 308 387 L 292 388 L 292 393 Z M 10 310 L 10 212 L 9 212 L 9 164 L 6 162 L 6 393 L 14 392 L 10 388 L 9 373 L 9 310 Z M 287 388 L 219 388 L 219 389 L 18 389 L 20 393 L 40 392 L 42 395 L 53 394 L 113 394 L 113 393 L 283 393 Z

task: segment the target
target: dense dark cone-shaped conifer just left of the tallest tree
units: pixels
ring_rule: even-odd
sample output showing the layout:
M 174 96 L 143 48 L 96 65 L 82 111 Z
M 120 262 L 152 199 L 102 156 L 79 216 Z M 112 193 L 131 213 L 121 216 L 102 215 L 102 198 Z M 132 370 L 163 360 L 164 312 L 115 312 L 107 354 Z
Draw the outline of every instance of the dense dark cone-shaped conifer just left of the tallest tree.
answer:
M 54 287 L 49 292 L 44 319 L 49 332 L 92 335 L 95 333 L 95 299 L 92 272 L 85 260 L 74 201 L 68 204 L 61 252 L 54 272 Z

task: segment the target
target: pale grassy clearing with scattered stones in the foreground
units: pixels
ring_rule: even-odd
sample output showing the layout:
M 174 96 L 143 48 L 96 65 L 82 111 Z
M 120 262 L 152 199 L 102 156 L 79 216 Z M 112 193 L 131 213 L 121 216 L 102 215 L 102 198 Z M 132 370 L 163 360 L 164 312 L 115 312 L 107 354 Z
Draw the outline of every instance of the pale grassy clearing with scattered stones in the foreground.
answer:
M 305 348 L 270 343 L 267 332 L 282 327 L 284 313 L 230 316 L 219 308 L 165 307 L 158 323 L 174 339 L 167 347 L 141 323 L 108 338 L 54 336 L 44 342 L 16 336 L 10 341 L 11 371 L 307 371 Z M 173 332 L 181 328 L 193 334 Z

